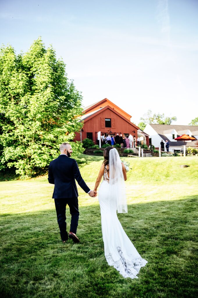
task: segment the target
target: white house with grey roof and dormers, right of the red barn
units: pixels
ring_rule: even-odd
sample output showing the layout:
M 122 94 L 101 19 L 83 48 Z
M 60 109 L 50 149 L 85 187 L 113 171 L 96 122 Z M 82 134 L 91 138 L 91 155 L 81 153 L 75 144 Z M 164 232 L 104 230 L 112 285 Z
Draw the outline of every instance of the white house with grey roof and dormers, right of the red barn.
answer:
M 149 143 L 155 147 L 160 147 L 160 142 L 169 142 L 169 151 L 180 150 L 184 141 L 177 141 L 175 138 L 187 134 L 196 138 L 194 141 L 185 142 L 186 147 L 198 147 L 198 126 L 197 125 L 166 125 L 166 124 L 147 124 L 144 132 L 149 135 Z M 197 144 L 196 144 L 197 143 Z M 165 146 L 164 146 L 165 147 Z

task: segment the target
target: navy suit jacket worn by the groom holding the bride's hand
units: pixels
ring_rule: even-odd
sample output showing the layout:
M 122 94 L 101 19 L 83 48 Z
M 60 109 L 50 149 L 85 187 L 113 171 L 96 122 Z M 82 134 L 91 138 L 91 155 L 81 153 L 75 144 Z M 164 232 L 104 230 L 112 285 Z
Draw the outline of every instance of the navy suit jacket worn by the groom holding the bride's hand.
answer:
M 80 175 L 78 164 L 75 159 L 64 155 L 52 160 L 49 164 L 48 181 L 54 184 L 54 192 L 52 198 L 73 198 L 78 196 L 76 186 L 77 180 L 79 186 L 88 193 L 89 187 Z

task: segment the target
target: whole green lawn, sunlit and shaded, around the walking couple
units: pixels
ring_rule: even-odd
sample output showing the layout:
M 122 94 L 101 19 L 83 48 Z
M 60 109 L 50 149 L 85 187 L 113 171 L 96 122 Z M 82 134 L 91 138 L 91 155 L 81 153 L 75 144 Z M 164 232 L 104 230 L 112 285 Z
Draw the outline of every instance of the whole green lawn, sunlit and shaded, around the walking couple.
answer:
M 85 156 L 80 171 L 94 187 L 102 157 Z M 98 198 L 79 189 L 81 242 L 60 240 L 47 176 L 0 182 L 1 297 L 198 297 L 198 158 L 128 158 L 124 230 L 148 260 L 139 278 L 107 265 Z M 188 164 L 180 168 L 180 164 Z M 67 209 L 67 222 L 70 214 Z

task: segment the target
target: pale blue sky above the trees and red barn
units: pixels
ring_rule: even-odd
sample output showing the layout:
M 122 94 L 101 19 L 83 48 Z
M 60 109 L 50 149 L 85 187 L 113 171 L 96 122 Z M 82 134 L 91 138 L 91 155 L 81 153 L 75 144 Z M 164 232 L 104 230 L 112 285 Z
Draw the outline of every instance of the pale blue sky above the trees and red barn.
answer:
M 132 115 L 198 117 L 198 0 L 0 1 L 0 43 L 38 36 L 67 65 L 87 106 L 107 97 Z

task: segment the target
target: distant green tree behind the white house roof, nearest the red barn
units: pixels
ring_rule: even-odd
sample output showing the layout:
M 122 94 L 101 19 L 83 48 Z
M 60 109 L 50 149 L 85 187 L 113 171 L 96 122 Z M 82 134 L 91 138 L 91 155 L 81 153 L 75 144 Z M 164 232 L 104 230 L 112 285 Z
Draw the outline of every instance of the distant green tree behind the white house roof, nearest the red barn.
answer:
M 172 121 L 176 121 L 177 117 L 165 117 L 164 114 L 152 114 L 151 110 L 148 110 L 146 114 L 143 115 L 143 117 L 140 118 L 141 122 L 139 122 L 138 126 L 141 130 L 144 130 L 146 127 L 146 124 L 152 123 L 152 124 L 168 124 L 170 125 Z

